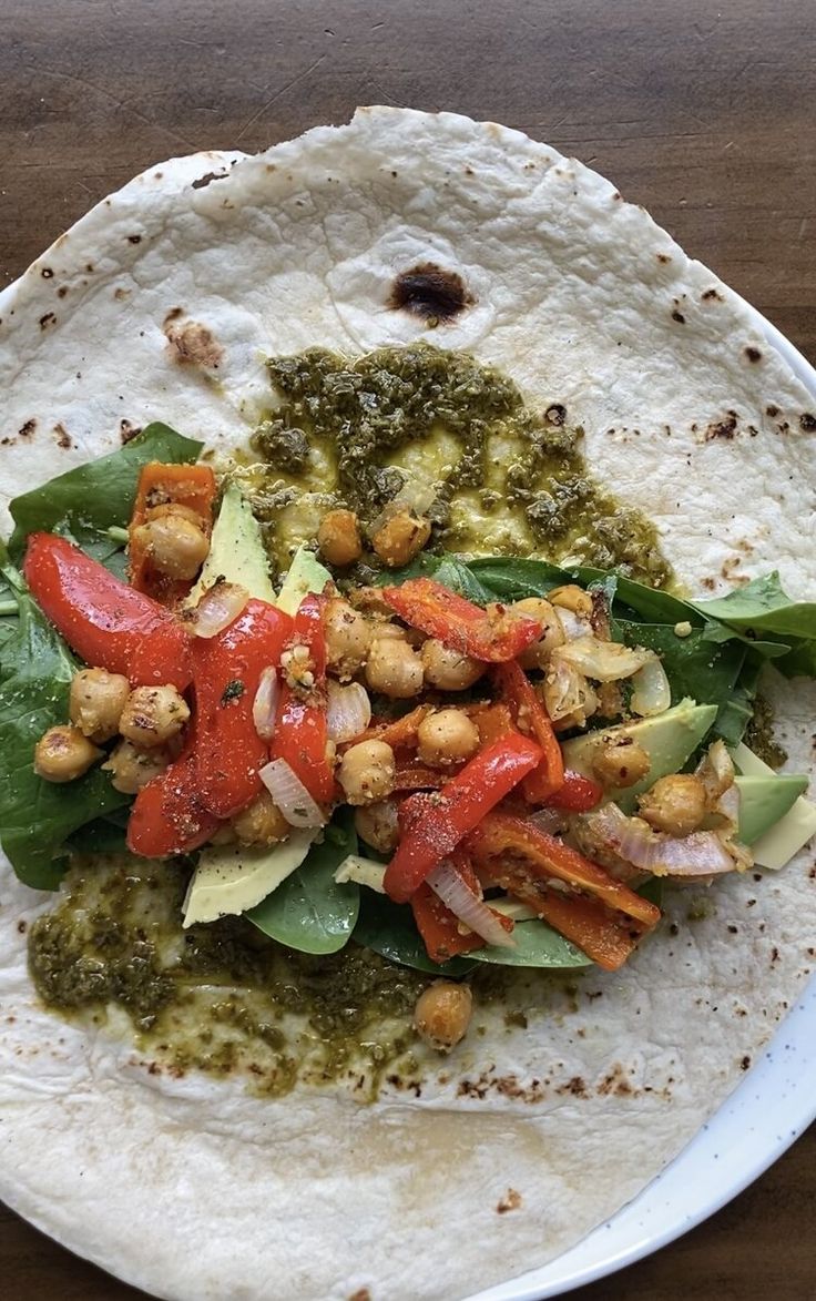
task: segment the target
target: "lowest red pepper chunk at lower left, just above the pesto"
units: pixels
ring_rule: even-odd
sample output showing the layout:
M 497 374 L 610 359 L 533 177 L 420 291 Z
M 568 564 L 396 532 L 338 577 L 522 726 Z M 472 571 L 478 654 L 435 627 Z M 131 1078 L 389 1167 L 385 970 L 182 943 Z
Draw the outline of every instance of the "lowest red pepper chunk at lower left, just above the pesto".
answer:
M 190 853 L 212 839 L 220 821 L 202 804 L 195 766 L 195 734 L 164 773 L 138 792 L 128 821 L 128 848 L 144 859 Z

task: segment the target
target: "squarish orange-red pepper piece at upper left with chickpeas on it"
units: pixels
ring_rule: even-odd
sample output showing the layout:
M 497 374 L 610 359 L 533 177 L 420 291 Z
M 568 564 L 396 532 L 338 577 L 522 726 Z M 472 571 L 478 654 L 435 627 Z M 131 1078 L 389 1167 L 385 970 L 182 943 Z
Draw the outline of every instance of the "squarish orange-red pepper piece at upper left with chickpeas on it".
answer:
M 198 516 L 199 528 L 210 537 L 215 493 L 216 481 L 210 466 L 176 466 L 151 461 L 142 467 L 128 545 L 131 587 L 138 592 L 147 592 L 164 605 L 176 604 L 187 595 L 193 583 L 170 579 L 155 569 L 138 530 L 156 518 L 163 506 L 173 505 L 193 511 Z

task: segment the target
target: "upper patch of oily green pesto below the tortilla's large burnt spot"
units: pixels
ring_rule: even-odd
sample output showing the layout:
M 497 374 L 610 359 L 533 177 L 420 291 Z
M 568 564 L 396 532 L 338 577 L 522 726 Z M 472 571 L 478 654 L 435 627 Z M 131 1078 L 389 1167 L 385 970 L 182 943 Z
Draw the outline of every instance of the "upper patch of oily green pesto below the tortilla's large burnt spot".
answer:
M 271 358 L 280 406 L 252 436 L 252 507 L 281 569 L 332 505 L 370 523 L 406 479 L 432 485 L 431 545 L 616 569 L 665 587 L 653 524 L 599 485 L 564 407 L 530 410 L 515 384 L 428 343 L 357 359 Z M 311 506 L 311 514 L 310 514 Z

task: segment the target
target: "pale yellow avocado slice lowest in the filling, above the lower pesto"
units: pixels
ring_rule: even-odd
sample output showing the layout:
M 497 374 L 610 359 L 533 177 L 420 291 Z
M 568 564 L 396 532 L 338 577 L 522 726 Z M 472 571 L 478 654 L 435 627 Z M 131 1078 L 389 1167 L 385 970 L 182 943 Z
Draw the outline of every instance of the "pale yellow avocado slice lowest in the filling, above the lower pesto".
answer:
M 184 925 L 216 921 L 255 908 L 301 866 L 316 831 L 289 833 L 271 850 L 224 844 L 204 850 L 187 887 Z

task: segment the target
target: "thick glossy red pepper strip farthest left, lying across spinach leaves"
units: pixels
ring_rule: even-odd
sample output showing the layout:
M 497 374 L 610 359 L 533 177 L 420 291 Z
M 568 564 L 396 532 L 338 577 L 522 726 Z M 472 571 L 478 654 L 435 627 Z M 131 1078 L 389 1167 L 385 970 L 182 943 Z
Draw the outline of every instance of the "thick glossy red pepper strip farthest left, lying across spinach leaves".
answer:
M 44 614 L 86 664 L 122 673 L 131 687 L 184 691 L 190 684 L 190 634 L 78 546 L 53 533 L 31 533 L 23 574 Z

